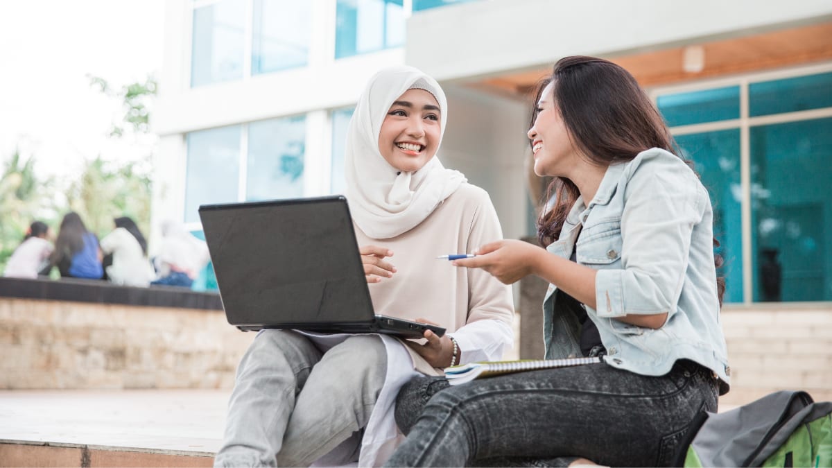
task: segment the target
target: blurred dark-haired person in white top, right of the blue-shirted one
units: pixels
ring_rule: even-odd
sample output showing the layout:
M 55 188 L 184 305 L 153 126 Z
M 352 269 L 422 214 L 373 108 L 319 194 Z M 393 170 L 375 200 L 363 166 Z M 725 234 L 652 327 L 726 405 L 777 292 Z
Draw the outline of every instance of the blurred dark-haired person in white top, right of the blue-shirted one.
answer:
M 101 241 L 102 252 L 111 255 L 105 267 L 111 283 L 120 286 L 148 286 L 156 278 L 156 271 L 147 260 L 147 241 L 131 217 L 117 217 L 116 229 Z M 105 261 L 106 265 L 106 261 Z

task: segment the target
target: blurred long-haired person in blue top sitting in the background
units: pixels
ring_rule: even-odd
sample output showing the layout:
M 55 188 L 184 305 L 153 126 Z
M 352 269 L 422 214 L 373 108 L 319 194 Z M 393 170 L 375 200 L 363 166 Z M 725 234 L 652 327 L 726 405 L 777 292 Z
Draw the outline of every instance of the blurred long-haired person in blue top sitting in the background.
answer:
M 41 274 L 48 275 L 53 266 L 57 266 L 62 277 L 100 280 L 104 276 L 98 237 L 87 231 L 77 212 L 68 212 L 63 217 L 55 251 Z

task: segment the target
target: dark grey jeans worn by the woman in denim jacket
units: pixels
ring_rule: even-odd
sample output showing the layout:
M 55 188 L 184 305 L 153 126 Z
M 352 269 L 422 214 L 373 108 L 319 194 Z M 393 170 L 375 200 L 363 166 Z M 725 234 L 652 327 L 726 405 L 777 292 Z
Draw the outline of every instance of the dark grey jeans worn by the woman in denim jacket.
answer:
M 692 361 L 665 376 L 593 364 L 460 386 L 418 378 L 399 392 L 409 434 L 386 465 L 668 466 L 696 413 L 716 404 L 716 377 Z

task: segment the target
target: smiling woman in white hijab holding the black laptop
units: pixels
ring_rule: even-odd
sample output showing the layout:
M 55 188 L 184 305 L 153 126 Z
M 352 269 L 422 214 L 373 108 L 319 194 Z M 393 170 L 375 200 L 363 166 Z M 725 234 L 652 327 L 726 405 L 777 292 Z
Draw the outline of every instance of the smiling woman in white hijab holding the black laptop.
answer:
M 237 370 L 215 466 L 378 466 L 401 439 L 393 406 L 405 382 L 512 346 L 510 288 L 435 259 L 502 237 L 488 194 L 435 157 L 447 120 L 433 78 L 377 73 L 349 123 L 345 177 L 374 310 L 448 333 L 261 331 Z

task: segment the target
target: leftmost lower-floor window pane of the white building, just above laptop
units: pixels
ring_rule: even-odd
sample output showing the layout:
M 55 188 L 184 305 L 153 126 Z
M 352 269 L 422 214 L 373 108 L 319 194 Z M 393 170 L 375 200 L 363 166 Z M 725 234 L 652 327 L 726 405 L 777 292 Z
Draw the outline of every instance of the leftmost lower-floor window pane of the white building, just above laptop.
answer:
M 185 140 L 185 221 L 199 222 L 200 205 L 237 201 L 240 126 L 191 132 Z

